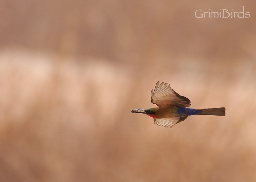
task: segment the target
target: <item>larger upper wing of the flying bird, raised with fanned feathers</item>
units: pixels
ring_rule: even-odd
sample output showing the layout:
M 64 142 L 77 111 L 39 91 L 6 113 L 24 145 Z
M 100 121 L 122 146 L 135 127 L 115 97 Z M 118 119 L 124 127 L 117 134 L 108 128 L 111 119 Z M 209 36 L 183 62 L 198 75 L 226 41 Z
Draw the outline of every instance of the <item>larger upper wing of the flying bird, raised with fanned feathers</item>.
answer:
M 190 100 L 184 96 L 177 94 L 168 83 L 162 82 L 159 85 L 159 81 L 156 83 L 155 89 L 151 91 L 151 102 L 156 104 L 160 108 L 168 108 L 170 105 L 179 107 L 191 106 Z

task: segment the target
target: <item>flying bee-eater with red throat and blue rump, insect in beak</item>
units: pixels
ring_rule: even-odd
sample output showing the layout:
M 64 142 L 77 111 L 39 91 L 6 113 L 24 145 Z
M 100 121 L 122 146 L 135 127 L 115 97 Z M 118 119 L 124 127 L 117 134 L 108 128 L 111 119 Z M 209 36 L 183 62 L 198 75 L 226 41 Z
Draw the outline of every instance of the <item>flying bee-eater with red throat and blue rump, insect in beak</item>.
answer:
M 161 126 L 173 127 L 191 115 L 225 116 L 225 107 L 209 109 L 190 109 L 190 100 L 177 94 L 168 83 L 159 81 L 151 91 L 151 102 L 158 107 L 151 109 L 133 109 L 132 113 L 143 113 L 154 118 L 154 123 Z

